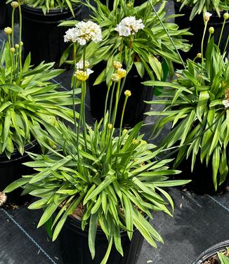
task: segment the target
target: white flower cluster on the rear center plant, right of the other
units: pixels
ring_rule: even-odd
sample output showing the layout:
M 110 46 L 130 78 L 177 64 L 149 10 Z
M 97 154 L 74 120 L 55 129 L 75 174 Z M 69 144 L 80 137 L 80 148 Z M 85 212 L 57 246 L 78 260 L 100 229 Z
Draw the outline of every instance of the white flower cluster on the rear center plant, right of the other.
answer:
M 115 30 L 119 32 L 119 36 L 128 37 L 131 34 L 135 34 L 139 29 L 143 29 L 145 25 L 143 20 L 138 19 L 134 16 L 124 18 L 118 25 L 115 27 Z

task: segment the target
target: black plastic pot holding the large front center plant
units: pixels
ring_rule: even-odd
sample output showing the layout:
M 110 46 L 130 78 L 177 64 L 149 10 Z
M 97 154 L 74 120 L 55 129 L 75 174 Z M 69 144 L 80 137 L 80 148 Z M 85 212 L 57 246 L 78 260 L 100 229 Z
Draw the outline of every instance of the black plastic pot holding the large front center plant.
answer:
M 122 248 L 124 257 L 112 246 L 107 264 L 135 264 L 137 263 L 140 249 L 143 244 L 143 236 L 138 230 L 133 232 L 133 238 L 129 241 L 127 233 L 121 232 Z M 62 231 L 60 242 L 63 249 L 63 260 L 65 264 L 100 264 L 107 251 L 107 238 L 102 230 L 96 233 L 96 256 L 92 260 L 89 250 L 89 230 L 81 230 L 81 222 L 77 218 L 68 216 Z

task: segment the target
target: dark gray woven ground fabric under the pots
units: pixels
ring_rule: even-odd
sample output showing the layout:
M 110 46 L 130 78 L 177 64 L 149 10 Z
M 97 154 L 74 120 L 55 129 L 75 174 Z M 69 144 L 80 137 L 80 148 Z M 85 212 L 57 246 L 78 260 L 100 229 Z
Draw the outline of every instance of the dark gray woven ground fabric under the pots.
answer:
M 173 13 L 173 10 L 172 1 L 169 1 L 167 11 Z M 0 31 L 0 41 L 4 38 Z M 70 88 L 71 74 L 68 70 L 55 79 L 63 85 L 63 90 Z M 93 124 L 89 95 L 86 105 L 87 121 Z M 154 121 L 148 117 L 145 123 Z M 161 137 L 168 129 L 162 132 Z M 143 128 L 143 133 L 145 138 L 150 136 L 150 125 Z M 165 213 L 153 213 L 150 220 L 162 235 L 164 244 L 158 244 L 154 249 L 144 242 L 136 264 L 191 264 L 209 246 L 229 239 L 229 192 L 213 197 L 178 188 L 171 188 L 169 192 L 175 203 L 174 218 Z M 67 264 L 63 263 L 60 242 L 51 242 L 44 227 L 37 229 L 41 213 L 28 210 L 27 206 L 15 210 L 0 209 L 0 264 Z

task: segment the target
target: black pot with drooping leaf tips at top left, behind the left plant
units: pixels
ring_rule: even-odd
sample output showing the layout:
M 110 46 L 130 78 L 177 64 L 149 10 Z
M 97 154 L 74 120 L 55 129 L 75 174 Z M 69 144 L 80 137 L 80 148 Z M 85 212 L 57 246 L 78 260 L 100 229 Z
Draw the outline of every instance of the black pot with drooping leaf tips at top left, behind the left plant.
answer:
M 63 20 L 81 18 L 81 1 L 25 0 L 21 4 L 25 58 L 31 52 L 33 65 L 45 60 L 55 62 L 57 67 L 66 48 L 63 41 L 65 31 L 58 24 Z

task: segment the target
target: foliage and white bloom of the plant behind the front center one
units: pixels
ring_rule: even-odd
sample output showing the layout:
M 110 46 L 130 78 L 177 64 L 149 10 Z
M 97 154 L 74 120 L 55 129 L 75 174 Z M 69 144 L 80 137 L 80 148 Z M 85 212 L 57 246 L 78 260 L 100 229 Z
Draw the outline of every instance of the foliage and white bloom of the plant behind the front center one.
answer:
M 160 6 L 156 12 L 157 4 Z M 100 84 L 105 80 L 107 83 L 110 82 L 114 60 L 123 62 L 129 70 L 132 67 L 136 68 L 140 77 L 147 74 L 150 79 L 155 79 L 155 76 L 157 79 L 163 77 L 160 57 L 164 58 L 171 72 L 173 72 L 172 62 L 182 63 L 177 50 L 189 50 L 190 45 L 182 37 L 190 33 L 188 29 L 178 29 L 178 25 L 168 22 L 169 18 L 174 15 L 166 17 L 165 4 L 165 1 L 157 0 L 144 1 L 140 6 L 133 6 L 133 1 L 117 0 L 114 1 L 113 9 L 109 10 L 98 0 L 96 0 L 96 7 L 86 1 L 86 6 L 92 11 L 93 21 L 103 29 L 103 42 L 89 44 L 86 58 L 90 59 L 91 66 L 101 61 L 105 61 L 107 64 L 105 69 L 102 66 L 102 72 L 95 84 Z M 69 26 L 75 23 L 66 21 L 60 25 Z M 135 25 L 134 41 L 133 30 L 126 29 L 129 28 L 129 25 Z M 120 34 L 117 34 L 117 31 Z M 174 45 L 171 44 L 171 40 Z M 60 64 L 67 60 L 70 48 L 63 53 Z M 130 50 L 131 56 L 129 56 Z

